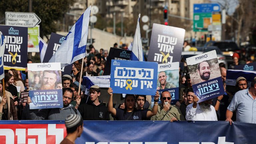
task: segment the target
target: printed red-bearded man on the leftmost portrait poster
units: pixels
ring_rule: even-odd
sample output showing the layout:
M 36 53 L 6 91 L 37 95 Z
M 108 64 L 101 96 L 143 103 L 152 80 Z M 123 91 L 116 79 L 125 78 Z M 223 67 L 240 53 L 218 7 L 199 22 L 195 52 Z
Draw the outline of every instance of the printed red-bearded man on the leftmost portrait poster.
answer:
M 57 74 L 55 71 L 45 70 L 42 76 L 42 84 L 40 90 L 55 89 L 55 82 L 57 81 Z

